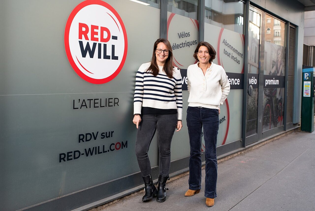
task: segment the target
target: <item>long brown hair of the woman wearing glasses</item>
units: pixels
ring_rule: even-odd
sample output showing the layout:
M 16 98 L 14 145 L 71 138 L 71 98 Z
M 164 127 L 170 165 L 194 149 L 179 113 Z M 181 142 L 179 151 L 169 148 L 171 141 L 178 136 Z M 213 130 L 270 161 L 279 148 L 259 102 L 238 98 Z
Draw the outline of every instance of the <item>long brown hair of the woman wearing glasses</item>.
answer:
M 166 39 L 157 39 L 155 41 L 154 46 L 153 46 L 153 54 L 152 54 L 152 60 L 151 60 L 151 65 L 146 69 L 147 72 L 152 72 L 152 75 L 157 76 L 159 69 L 157 66 L 157 58 L 155 56 L 155 51 L 157 50 L 157 44 L 160 42 L 163 42 L 164 45 L 166 45 L 167 49 L 169 50 L 169 55 L 165 61 L 165 65 L 163 66 L 163 71 L 164 73 L 169 77 L 173 78 L 173 51 L 172 51 L 172 46 L 169 43 L 168 40 Z

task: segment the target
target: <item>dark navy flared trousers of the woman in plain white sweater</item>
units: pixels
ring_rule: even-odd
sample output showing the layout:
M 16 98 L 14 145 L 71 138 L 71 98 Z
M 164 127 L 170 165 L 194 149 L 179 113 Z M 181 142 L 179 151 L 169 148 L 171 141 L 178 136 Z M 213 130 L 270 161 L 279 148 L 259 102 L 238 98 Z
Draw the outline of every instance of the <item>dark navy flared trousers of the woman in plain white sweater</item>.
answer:
M 190 107 L 187 109 L 187 127 L 190 143 L 189 189 L 201 188 L 201 130 L 205 143 L 206 178 L 204 196 L 215 198 L 217 182 L 216 142 L 219 129 L 217 109 Z

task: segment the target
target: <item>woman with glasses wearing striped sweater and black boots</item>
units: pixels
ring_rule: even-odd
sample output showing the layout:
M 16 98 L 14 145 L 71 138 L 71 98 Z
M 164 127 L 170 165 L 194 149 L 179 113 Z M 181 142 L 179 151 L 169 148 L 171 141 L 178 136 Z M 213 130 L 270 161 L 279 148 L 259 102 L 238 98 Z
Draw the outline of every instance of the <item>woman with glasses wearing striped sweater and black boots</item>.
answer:
M 182 128 L 182 93 L 180 70 L 173 66 L 171 44 L 157 39 L 151 62 L 144 63 L 136 74 L 134 119 L 138 131 L 135 152 L 145 183 L 142 201 L 157 196 L 157 202 L 166 199 L 165 184 L 169 178 L 171 140 Z M 160 174 L 158 188 L 153 185 L 148 150 L 157 131 Z

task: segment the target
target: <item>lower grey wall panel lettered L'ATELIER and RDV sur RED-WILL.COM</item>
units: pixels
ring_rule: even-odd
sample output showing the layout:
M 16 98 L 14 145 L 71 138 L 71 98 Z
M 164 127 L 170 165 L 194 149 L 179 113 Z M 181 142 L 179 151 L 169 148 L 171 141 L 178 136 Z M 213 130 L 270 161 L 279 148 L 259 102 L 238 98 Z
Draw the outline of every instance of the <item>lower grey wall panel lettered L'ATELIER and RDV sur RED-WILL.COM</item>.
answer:
M 72 109 L 73 99 L 113 95 L 119 98 L 119 110 L 117 105 Z M 133 93 L 0 96 L 0 134 L 6 149 L 1 164 L 6 190 L 1 197 L 8 205 L 5 208 L 9 210 L 12 199 L 19 198 L 14 208 L 23 208 L 139 171 L 134 154 L 136 130 L 131 121 L 125 120 L 132 112 L 130 98 Z M 101 138 L 102 132 L 109 131 L 114 131 L 112 137 Z M 99 132 L 96 140 L 92 137 L 79 143 L 79 134 L 92 132 Z M 111 149 L 115 150 L 103 151 L 103 145 L 106 151 L 112 143 L 126 141 L 123 149 L 118 144 L 119 150 L 113 145 Z M 153 141 L 150 150 L 157 151 L 156 145 Z M 101 154 L 86 156 L 85 149 L 98 146 L 97 153 Z M 84 155 L 70 160 L 75 150 Z M 152 166 L 157 164 L 154 151 L 150 153 Z M 69 160 L 66 157 L 60 162 L 60 153 L 67 152 L 72 152 Z

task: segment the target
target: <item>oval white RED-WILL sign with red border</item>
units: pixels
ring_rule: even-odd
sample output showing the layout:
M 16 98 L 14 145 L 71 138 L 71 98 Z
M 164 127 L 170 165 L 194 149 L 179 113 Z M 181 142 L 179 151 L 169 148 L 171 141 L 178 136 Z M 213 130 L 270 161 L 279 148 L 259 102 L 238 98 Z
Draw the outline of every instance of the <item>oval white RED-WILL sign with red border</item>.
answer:
M 93 84 L 104 84 L 123 68 L 127 33 L 117 11 L 100 0 L 86 0 L 71 12 L 65 49 L 74 71 Z

